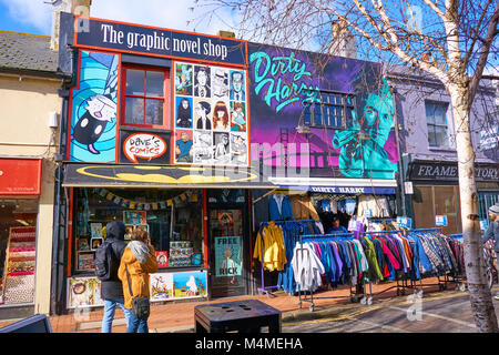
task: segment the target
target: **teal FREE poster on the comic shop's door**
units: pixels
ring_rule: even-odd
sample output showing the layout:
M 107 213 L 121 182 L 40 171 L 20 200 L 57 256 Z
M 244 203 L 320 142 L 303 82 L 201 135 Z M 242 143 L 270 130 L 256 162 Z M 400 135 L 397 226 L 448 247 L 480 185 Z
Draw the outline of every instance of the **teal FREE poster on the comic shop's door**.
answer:
M 241 237 L 215 237 L 216 277 L 241 276 Z

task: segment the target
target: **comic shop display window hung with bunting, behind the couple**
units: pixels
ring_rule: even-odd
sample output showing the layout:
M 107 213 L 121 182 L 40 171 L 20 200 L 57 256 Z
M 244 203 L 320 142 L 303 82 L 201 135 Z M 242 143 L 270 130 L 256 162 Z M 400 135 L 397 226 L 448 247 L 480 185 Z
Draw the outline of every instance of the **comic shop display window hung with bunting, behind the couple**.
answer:
M 75 189 L 73 205 L 75 273 L 94 270 L 111 221 L 125 224 L 125 243 L 133 230 L 147 231 L 159 268 L 204 264 L 201 190 Z

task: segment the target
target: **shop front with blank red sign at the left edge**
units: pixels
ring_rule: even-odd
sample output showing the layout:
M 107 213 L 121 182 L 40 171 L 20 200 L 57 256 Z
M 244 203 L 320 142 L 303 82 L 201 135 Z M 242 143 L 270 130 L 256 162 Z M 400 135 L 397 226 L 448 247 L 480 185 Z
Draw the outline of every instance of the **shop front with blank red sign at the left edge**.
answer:
M 34 312 L 40 159 L 0 159 L 0 314 Z

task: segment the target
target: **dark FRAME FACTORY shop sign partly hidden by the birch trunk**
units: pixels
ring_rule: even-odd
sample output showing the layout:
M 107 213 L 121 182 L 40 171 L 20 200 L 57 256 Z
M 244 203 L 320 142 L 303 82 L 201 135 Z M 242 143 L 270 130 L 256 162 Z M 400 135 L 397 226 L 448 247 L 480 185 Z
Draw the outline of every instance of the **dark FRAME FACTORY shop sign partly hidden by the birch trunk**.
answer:
M 409 178 L 410 180 L 458 181 L 459 169 L 457 163 L 415 162 Z M 475 178 L 477 181 L 499 182 L 499 165 L 475 164 Z

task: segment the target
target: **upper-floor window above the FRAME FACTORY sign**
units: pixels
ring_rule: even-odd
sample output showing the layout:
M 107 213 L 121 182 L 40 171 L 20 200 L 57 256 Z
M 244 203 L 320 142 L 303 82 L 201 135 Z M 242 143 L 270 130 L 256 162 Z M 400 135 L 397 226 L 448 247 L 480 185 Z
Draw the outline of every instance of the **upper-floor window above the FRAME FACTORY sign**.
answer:
M 445 102 L 425 102 L 428 144 L 430 146 L 449 146 L 447 106 L 448 104 Z

